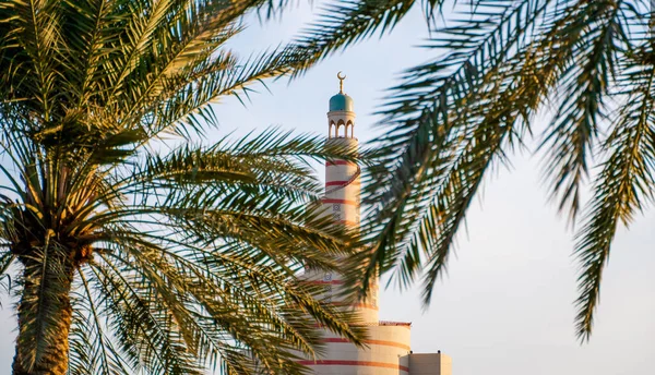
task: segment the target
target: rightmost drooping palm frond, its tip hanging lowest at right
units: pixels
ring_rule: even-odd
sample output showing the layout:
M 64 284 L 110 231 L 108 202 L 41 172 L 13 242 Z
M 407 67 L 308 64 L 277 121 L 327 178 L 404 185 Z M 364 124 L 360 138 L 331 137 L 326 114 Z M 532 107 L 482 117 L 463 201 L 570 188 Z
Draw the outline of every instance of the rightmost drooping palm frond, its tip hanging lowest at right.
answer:
M 600 298 L 603 269 L 620 225 L 628 226 L 634 215 L 652 203 L 655 191 L 653 144 L 655 112 L 653 94 L 655 70 L 652 49 L 642 51 L 641 61 L 631 61 L 623 80 L 629 84 L 624 106 L 603 150 L 608 155 L 594 183 L 594 197 L 588 204 L 585 225 L 577 233 L 575 254 L 580 262 L 580 297 L 575 317 L 577 337 L 588 340 L 594 311 Z

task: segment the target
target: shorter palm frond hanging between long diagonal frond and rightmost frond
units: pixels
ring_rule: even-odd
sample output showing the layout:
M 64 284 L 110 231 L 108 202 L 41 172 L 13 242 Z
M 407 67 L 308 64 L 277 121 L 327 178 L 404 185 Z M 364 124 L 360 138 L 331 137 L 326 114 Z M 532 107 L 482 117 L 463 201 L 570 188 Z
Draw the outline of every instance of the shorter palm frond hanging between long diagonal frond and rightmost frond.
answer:
M 606 116 L 607 90 L 617 74 L 617 53 L 626 49 L 628 41 L 621 7 L 620 1 L 596 1 L 580 8 L 579 19 L 592 19 L 593 23 L 582 29 L 581 24 L 572 23 L 562 31 L 580 33 L 580 43 L 573 47 L 575 61 L 560 78 L 564 99 L 540 147 L 547 152 L 545 173 L 550 180 L 551 197 L 559 195 L 559 209 L 569 210 L 571 222 L 580 209 L 580 189 L 598 138 L 598 122 Z

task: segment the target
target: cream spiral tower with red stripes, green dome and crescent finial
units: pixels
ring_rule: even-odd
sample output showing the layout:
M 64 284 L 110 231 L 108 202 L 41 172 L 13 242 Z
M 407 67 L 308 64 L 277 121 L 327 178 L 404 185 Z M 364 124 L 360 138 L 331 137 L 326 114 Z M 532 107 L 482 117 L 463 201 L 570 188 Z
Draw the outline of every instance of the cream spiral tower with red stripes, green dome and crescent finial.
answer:
M 343 92 L 344 76 L 340 78 L 340 93 L 330 98 L 327 112 L 329 137 L 326 142 L 358 147 L 355 137 L 353 99 Z M 332 215 L 340 225 L 359 226 L 359 167 L 346 160 L 325 164 L 325 215 Z M 369 327 L 368 348 L 359 349 L 345 339 L 325 331 L 326 352 L 317 361 L 301 361 L 314 374 L 321 375 L 409 375 L 409 324 L 380 322 L 378 317 L 378 283 L 371 298 L 364 303 L 347 305 L 336 293 L 343 285 L 342 276 L 330 271 L 308 270 L 306 280 L 324 286 L 323 299 L 355 310 L 362 324 Z

